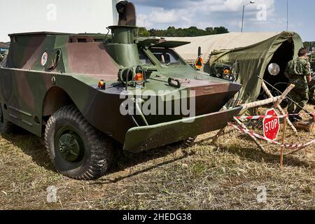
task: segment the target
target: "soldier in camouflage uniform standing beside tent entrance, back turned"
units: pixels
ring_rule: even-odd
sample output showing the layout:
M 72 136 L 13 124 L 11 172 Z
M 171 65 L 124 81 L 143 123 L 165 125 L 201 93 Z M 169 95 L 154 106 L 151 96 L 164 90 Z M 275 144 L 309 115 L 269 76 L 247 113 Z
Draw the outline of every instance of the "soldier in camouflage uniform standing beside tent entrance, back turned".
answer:
M 309 85 L 311 82 L 311 64 L 307 59 L 307 49 L 299 50 L 298 58 L 288 62 L 286 67 L 286 76 L 290 79 L 290 84 L 294 84 L 295 88 L 291 90 L 290 97 L 297 103 L 291 103 L 288 106 L 289 114 L 298 114 L 304 106 L 309 102 Z M 291 121 L 302 120 L 300 116 L 290 116 Z

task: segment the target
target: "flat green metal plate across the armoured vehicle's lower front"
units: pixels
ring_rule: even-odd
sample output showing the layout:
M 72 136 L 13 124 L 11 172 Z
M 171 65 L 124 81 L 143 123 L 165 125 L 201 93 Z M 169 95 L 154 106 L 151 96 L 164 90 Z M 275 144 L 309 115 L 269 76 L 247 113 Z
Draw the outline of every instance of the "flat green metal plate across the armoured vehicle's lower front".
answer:
M 225 127 L 241 111 L 241 107 L 195 118 L 183 118 L 169 123 L 134 127 L 126 134 L 126 151 L 140 153 L 151 148 L 165 146 L 192 136 L 212 132 Z

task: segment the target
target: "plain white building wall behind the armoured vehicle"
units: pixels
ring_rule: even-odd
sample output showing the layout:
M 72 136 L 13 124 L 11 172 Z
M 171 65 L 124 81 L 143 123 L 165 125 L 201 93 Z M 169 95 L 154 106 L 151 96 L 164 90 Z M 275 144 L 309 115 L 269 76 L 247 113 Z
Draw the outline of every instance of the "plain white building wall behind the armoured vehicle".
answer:
M 106 33 L 116 25 L 119 0 L 1 0 L 0 41 L 29 31 Z M 5 9 L 5 10 L 3 10 Z

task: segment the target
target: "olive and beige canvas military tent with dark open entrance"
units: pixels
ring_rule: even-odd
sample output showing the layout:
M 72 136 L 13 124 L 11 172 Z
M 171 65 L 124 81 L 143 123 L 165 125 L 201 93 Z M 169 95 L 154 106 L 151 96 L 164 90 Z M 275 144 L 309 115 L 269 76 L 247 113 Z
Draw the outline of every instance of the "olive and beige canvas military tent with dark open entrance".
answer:
M 192 61 L 197 58 L 197 50 L 202 48 L 204 71 L 214 63 L 239 63 L 239 82 L 243 85 L 241 99 L 243 102 L 253 102 L 260 95 L 261 80 L 264 78 L 272 85 L 284 90 L 288 79 L 283 72 L 286 64 L 297 57 L 297 52 L 303 43 L 300 36 L 294 32 L 281 33 L 230 33 L 211 36 L 172 37 L 167 40 L 190 41 L 188 45 L 176 48 L 176 52 Z M 279 64 L 281 72 L 278 76 L 270 76 L 267 66 L 270 63 Z

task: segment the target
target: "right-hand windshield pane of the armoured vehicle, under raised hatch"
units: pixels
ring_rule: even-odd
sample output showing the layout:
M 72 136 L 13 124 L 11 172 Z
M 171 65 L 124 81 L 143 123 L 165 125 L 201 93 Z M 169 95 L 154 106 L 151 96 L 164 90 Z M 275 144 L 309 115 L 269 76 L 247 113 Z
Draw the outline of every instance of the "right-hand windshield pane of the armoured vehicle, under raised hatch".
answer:
M 164 48 L 151 48 L 150 50 L 163 65 L 170 66 L 184 64 L 179 55 L 177 55 L 174 50 Z

